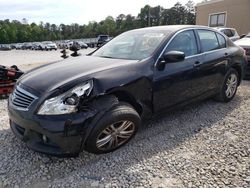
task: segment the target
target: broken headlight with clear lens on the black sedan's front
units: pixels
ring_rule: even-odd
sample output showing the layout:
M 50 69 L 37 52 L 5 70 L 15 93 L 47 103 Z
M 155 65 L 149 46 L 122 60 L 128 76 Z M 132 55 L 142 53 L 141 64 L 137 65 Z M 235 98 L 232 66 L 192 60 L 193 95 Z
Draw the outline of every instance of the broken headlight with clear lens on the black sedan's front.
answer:
M 39 115 L 60 115 L 77 112 L 80 98 L 88 96 L 93 89 L 93 81 L 87 81 L 57 97 L 46 100 L 40 109 Z

